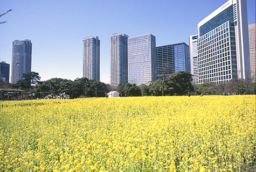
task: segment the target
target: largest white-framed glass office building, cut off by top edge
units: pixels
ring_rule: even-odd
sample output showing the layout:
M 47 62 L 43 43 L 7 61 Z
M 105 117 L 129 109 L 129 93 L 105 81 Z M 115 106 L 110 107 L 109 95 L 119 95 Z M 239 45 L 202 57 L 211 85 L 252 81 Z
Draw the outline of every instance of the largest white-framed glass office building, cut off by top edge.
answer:
M 198 23 L 199 84 L 250 78 L 246 0 L 230 0 Z

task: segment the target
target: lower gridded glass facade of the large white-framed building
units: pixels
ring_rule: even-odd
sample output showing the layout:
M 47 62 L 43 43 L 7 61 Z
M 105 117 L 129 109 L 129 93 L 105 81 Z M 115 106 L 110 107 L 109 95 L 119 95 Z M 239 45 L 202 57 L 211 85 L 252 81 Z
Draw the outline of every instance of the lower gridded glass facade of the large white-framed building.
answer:
M 236 39 L 233 21 L 227 21 L 197 40 L 199 84 L 226 83 L 237 78 Z

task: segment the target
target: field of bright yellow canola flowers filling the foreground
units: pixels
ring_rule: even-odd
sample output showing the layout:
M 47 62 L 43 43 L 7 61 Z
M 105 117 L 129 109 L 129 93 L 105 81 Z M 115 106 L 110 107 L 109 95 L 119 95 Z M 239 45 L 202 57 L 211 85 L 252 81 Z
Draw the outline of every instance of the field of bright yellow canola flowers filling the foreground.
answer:
M 255 95 L 0 103 L 0 171 L 255 168 Z

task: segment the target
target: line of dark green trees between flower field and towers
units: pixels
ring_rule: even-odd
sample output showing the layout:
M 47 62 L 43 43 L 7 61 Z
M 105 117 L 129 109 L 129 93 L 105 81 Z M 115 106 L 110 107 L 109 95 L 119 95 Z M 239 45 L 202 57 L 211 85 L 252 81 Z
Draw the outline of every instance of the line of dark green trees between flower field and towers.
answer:
M 183 96 L 183 95 L 244 95 L 256 94 L 256 84 L 249 80 L 230 80 L 227 83 L 215 85 L 206 81 L 200 85 L 192 84 L 192 74 L 186 71 L 177 71 L 168 77 L 154 82 L 141 84 L 122 84 L 116 88 L 97 80 L 86 77 L 76 78 L 74 81 L 63 78 L 51 78 L 40 81 L 38 73 L 32 71 L 23 74 L 23 79 L 16 84 L 1 81 L 0 88 L 22 89 L 33 92 L 52 92 L 59 95 L 63 92 L 71 98 L 78 97 L 105 97 L 109 91 L 118 91 L 121 97 L 128 96 Z

